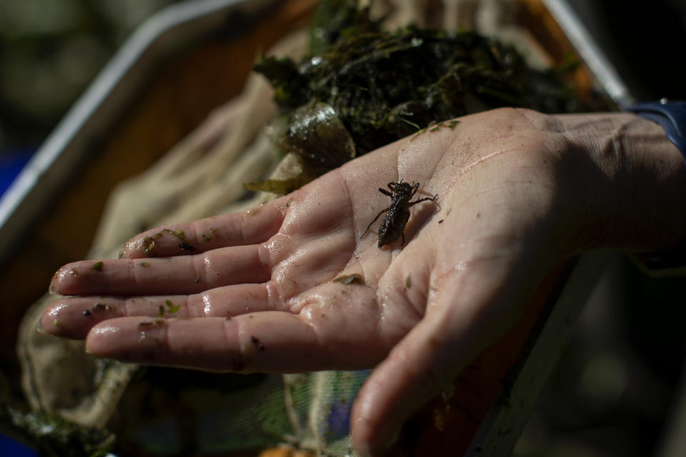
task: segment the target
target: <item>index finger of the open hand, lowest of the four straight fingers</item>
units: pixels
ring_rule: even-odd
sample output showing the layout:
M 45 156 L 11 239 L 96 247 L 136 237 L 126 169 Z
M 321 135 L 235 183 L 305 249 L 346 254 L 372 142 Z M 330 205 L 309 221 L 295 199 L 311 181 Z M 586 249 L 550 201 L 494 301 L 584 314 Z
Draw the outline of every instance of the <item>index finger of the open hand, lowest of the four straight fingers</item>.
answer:
M 322 346 L 298 315 L 282 311 L 234 318 L 109 319 L 91 329 L 86 350 L 123 361 L 209 371 L 294 373 L 337 368 L 346 359 L 344 351 L 334 355 Z

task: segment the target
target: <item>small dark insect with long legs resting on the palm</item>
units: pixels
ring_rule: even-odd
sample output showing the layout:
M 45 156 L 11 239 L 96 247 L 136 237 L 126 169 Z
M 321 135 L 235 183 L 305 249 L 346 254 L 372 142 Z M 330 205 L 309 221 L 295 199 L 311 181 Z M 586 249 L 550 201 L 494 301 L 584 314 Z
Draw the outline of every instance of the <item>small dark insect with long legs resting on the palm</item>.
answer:
M 384 246 L 384 244 L 393 243 L 393 241 L 397 240 L 399 236 L 402 236 L 402 243 L 400 246 L 404 245 L 404 231 L 405 225 L 407 225 L 407 221 L 409 221 L 410 206 L 414 206 L 422 201 L 434 201 L 434 199 L 437 197 L 437 195 L 434 195 L 432 197 L 426 197 L 424 199 L 411 202 L 410 200 L 412 200 L 414 194 L 417 194 L 419 183 L 412 183 L 412 186 L 410 186 L 409 184 L 402 182 L 402 179 L 397 183 L 388 183 L 388 189 L 391 189 L 391 191 L 389 192 L 386 189 L 381 189 L 379 187 L 379 192 L 391 197 L 391 206 L 377 214 L 377 217 L 375 217 L 374 220 L 369 223 L 369 226 L 367 226 L 367 230 L 365 230 L 364 233 L 362 233 L 362 236 L 359 237 L 359 239 L 362 239 L 362 237 L 367 234 L 367 231 L 369 231 L 369 228 L 372 226 L 372 224 L 379 219 L 379 216 L 388 211 L 388 214 L 386 217 L 384 217 L 384 220 L 381 221 L 381 226 L 379 226 L 379 248 Z

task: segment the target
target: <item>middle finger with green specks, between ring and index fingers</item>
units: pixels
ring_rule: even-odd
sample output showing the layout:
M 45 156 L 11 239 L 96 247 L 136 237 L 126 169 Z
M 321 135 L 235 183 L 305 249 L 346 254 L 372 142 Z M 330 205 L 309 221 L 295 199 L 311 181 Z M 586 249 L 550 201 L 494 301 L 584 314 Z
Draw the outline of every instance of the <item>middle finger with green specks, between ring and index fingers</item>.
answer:
M 231 317 L 277 307 L 269 301 L 267 283 L 219 287 L 190 296 L 65 297 L 46 308 L 41 328 L 55 336 L 84 339 L 91 327 L 111 318 Z

